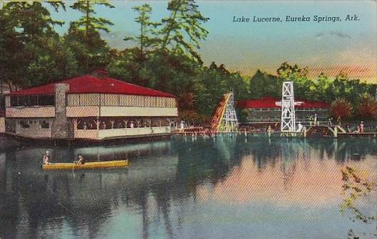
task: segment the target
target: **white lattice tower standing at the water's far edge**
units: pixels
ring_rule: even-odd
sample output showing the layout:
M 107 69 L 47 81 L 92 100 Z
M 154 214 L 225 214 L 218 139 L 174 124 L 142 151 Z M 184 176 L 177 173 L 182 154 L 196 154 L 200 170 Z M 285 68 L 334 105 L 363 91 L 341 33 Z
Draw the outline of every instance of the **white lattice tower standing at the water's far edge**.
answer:
M 282 132 L 296 131 L 296 117 L 294 114 L 294 90 L 293 82 L 283 83 L 282 90 Z

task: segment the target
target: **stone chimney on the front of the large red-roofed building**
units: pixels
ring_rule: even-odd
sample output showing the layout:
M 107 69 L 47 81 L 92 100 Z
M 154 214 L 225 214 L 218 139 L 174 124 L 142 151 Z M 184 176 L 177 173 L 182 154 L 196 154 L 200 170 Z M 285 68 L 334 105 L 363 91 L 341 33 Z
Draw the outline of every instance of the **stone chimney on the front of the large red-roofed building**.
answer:
M 53 138 L 67 138 L 69 127 L 66 114 L 66 92 L 69 85 L 66 83 L 55 84 L 55 120 L 51 126 Z

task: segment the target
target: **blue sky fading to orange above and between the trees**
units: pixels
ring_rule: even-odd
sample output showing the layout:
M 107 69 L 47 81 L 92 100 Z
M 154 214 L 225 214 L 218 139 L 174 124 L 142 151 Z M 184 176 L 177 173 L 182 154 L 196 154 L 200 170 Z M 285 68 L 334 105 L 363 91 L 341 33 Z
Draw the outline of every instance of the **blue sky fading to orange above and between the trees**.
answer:
M 132 7 L 146 1 L 111 1 L 115 9 L 95 8 L 98 16 L 113 21 L 110 33 L 102 33 L 110 46 L 123 49 L 132 43 L 125 36 L 136 36 L 138 24 Z M 68 1 L 70 5 L 73 1 Z M 153 7 L 152 19 L 167 16 L 167 1 L 148 1 Z M 324 72 L 334 77 L 341 71 L 350 78 L 377 83 L 377 1 L 197 1 L 210 21 L 204 24 L 210 32 L 201 42 L 199 52 L 205 65 L 223 63 L 232 71 L 253 75 L 257 69 L 276 73 L 285 61 L 309 68 L 315 78 Z M 345 21 L 346 16 L 358 21 Z M 341 21 L 318 23 L 286 22 L 286 16 L 339 16 Z M 53 13 L 66 21 L 56 31 L 65 33 L 68 23 L 79 18 L 78 11 Z M 234 23 L 236 17 L 280 17 L 282 22 Z

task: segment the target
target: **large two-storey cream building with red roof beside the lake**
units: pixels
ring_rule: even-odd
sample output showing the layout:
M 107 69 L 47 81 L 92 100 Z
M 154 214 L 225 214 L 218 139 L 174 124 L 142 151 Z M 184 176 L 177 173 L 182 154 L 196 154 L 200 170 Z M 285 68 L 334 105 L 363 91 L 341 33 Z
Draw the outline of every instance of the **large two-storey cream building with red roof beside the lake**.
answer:
M 96 71 L 6 95 L 6 132 L 25 137 L 107 139 L 170 133 L 175 96 Z

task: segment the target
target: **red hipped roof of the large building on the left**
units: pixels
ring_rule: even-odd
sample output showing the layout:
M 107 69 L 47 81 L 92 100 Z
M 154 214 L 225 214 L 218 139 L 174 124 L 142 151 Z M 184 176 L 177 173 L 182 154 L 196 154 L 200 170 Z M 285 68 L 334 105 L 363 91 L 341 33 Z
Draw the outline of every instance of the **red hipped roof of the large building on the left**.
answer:
M 69 84 L 68 94 L 103 93 L 118 95 L 148 95 L 159 97 L 175 97 L 169 93 L 153 90 L 139 85 L 125 83 L 113 78 L 96 78 L 92 75 L 83 75 L 58 83 Z M 54 84 L 41 85 L 26 90 L 10 92 L 8 95 L 53 95 Z

